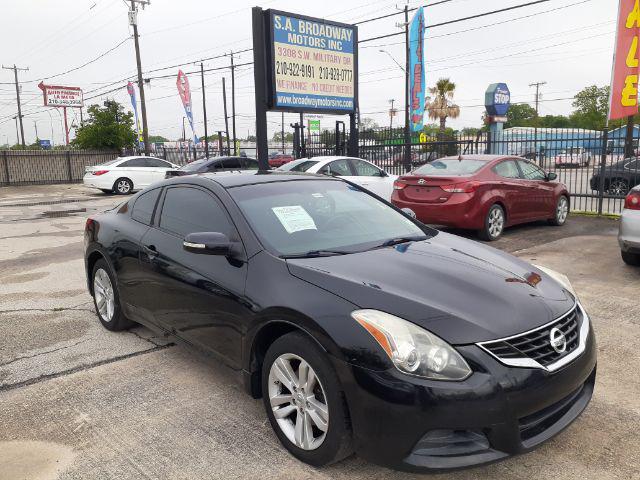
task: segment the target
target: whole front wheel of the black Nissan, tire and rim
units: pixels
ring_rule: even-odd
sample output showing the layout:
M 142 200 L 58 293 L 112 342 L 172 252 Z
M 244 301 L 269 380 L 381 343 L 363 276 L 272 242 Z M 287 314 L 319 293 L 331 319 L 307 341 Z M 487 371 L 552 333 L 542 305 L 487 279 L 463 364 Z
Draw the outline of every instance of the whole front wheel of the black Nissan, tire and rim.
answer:
M 311 391 L 306 390 L 307 381 L 301 382 L 299 378 L 299 368 L 303 365 L 316 379 Z M 293 383 L 289 379 L 293 379 Z M 306 335 L 289 333 L 269 347 L 262 365 L 262 393 L 271 427 L 280 443 L 298 460 L 321 467 L 353 453 L 342 386 L 326 353 Z M 282 396 L 288 400 L 272 402 L 272 398 Z M 310 401 L 301 401 L 305 397 Z M 279 412 L 279 418 L 274 410 Z M 300 425 L 306 428 L 297 433 L 299 418 Z M 322 424 L 324 431 L 318 428 Z M 311 435 L 305 435 L 309 430 Z

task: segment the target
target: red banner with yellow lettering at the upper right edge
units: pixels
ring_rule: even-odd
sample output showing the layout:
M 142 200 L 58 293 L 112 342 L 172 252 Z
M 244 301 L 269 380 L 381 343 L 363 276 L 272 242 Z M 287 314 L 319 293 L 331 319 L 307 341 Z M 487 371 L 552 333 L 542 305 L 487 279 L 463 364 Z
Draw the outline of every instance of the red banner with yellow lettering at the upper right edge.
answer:
M 609 120 L 617 120 L 638 113 L 639 36 L 640 0 L 620 0 L 609 98 Z

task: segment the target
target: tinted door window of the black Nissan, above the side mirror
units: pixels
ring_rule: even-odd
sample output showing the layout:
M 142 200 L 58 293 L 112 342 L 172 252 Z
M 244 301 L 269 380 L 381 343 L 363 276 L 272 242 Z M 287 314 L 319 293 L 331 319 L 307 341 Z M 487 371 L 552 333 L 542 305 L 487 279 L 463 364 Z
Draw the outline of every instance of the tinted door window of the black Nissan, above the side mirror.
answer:
M 230 235 L 232 231 L 222 205 L 208 193 L 190 187 L 167 189 L 160 215 L 160 228 L 181 237 L 195 232 Z

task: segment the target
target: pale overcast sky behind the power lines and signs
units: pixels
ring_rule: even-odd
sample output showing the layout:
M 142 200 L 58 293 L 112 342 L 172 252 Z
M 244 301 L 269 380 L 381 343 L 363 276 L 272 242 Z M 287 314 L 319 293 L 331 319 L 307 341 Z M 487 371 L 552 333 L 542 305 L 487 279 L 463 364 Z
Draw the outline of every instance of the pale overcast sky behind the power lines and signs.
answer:
M 0 62 L 3 65 L 28 67 L 20 72 L 25 136 L 35 139 L 37 122 L 40 138 L 63 140 L 61 112 L 49 112 L 42 106 L 38 82 L 45 77 L 78 67 L 115 47 L 131 35 L 127 7 L 123 0 L 20 0 L 3 5 L 0 29 Z M 143 70 L 156 70 L 182 62 L 251 47 L 251 7 L 301 13 L 345 23 L 358 22 L 393 13 L 398 0 L 323 0 L 300 2 L 275 0 L 256 2 L 235 0 L 152 0 L 138 15 L 141 35 Z M 409 6 L 436 3 L 410 1 Z M 527 0 L 452 0 L 425 9 L 426 83 L 448 77 L 456 83 L 455 101 L 461 115 L 449 123 L 454 128 L 481 125 L 484 92 L 490 83 L 506 82 L 512 101 L 533 103 L 534 89 L 529 84 L 546 81 L 542 87 L 541 115 L 567 114 L 571 97 L 587 85 L 606 85 L 611 75 L 611 59 L 615 37 L 617 1 L 615 0 L 550 0 L 484 18 L 463 21 L 429 29 L 429 25 L 467 17 L 490 10 L 527 3 Z M 402 4 L 404 5 L 404 4 Z M 398 31 L 393 16 L 359 27 L 360 40 Z M 362 117 L 373 118 L 382 125 L 389 122 L 389 100 L 404 108 L 403 73 L 380 49 L 387 50 L 404 63 L 404 37 L 360 44 L 360 110 Z M 250 62 L 251 52 L 239 54 L 237 64 Z M 205 68 L 228 64 L 228 58 L 205 61 Z M 193 71 L 195 65 L 185 65 Z M 151 134 L 170 139 L 181 136 L 184 110 L 178 97 L 175 75 L 177 68 L 159 70 L 148 76 L 171 75 L 153 79 L 148 87 L 147 112 Z M 133 40 L 128 40 L 98 61 L 72 73 L 45 83 L 79 86 L 85 98 L 101 91 L 125 85 L 118 82 L 135 74 Z M 228 70 L 205 75 L 209 131 L 224 129 L 222 110 L 222 77 Z M 200 78 L 189 75 L 196 133 L 203 134 Z M 13 72 L 0 71 L 0 144 L 15 143 L 16 115 Z M 93 92 L 92 92 L 93 91 Z M 253 71 L 236 69 L 236 111 L 239 137 L 254 133 Z M 228 90 L 228 95 L 229 90 Z M 126 88 L 119 88 L 86 101 L 87 105 L 113 98 L 130 109 Z M 77 117 L 77 119 L 76 119 Z M 285 124 L 296 115 L 285 114 Z M 332 128 L 338 117 L 325 116 L 322 126 Z M 70 109 L 70 121 L 79 119 Z M 344 118 L 346 120 L 346 117 Z M 398 118 L 396 121 L 401 121 Z M 269 114 L 269 126 L 279 128 L 280 113 Z M 189 134 L 188 134 L 189 135 Z

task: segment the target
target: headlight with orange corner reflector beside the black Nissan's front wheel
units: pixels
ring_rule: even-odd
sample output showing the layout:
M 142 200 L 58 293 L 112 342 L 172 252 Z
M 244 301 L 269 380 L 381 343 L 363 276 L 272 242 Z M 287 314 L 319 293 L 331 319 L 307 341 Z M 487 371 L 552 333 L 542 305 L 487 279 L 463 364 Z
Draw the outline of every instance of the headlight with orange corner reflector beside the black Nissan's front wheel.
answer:
M 433 333 L 379 310 L 356 310 L 362 325 L 402 373 L 432 380 L 464 380 L 471 369 L 462 356 Z

